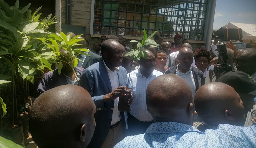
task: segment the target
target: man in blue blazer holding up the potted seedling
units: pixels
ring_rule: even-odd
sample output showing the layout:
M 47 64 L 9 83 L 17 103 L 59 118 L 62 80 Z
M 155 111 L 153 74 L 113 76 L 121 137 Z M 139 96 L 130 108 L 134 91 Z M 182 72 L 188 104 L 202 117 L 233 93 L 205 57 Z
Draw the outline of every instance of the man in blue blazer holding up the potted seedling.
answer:
M 127 73 L 121 67 L 124 51 L 118 41 L 104 41 L 101 44 L 103 60 L 89 66 L 81 75 L 80 85 L 90 93 L 96 105 L 96 128 L 88 145 L 90 148 L 114 147 L 123 140 L 125 118 L 118 110 L 118 100 L 129 92 L 125 87 Z M 132 103 L 132 96 L 127 103 Z

